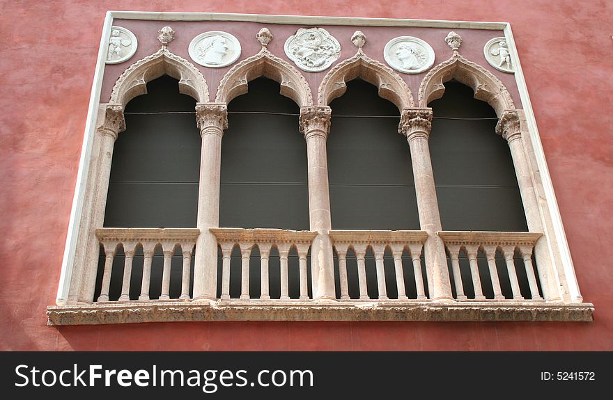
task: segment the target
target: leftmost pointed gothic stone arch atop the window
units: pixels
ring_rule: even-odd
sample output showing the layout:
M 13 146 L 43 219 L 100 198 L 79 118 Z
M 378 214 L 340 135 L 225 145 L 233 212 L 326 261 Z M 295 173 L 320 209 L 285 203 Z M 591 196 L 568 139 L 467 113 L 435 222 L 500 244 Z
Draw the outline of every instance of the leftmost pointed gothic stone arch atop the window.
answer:
M 147 82 L 167 74 L 179 81 L 179 92 L 196 99 L 196 102 L 209 101 L 208 86 L 201 72 L 192 63 L 167 48 L 156 51 L 130 65 L 115 82 L 110 104 L 125 105 L 131 99 L 147 93 Z

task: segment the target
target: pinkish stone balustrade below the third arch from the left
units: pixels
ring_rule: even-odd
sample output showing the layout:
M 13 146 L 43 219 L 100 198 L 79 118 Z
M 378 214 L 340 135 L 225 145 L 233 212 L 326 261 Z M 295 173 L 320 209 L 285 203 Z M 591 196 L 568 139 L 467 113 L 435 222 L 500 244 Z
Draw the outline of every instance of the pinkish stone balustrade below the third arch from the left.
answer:
M 366 280 L 366 253 L 369 249 L 372 250 L 375 257 L 378 300 L 390 300 L 385 282 L 384 255 L 386 249 L 391 251 L 391 255 L 394 258 L 398 301 L 408 300 L 402 263 L 403 252 L 405 250 L 408 250 L 412 259 L 417 300 L 426 300 L 420 259 L 424 242 L 428 238 L 426 232 L 410 230 L 330 230 L 329 235 L 332 243 L 334 243 L 336 255 L 339 259 L 341 300 L 350 300 L 347 276 L 347 253 L 349 250 L 355 253 L 357 259 L 359 300 L 371 300 L 371 296 L 368 296 Z

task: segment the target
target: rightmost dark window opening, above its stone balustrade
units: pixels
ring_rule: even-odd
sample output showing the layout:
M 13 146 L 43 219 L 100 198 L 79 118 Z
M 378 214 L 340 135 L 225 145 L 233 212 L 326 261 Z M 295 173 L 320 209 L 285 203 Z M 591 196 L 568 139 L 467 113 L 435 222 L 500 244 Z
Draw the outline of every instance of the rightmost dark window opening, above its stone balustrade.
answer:
M 430 157 L 443 230 L 527 231 L 509 145 L 472 89 L 445 83 L 433 110 Z

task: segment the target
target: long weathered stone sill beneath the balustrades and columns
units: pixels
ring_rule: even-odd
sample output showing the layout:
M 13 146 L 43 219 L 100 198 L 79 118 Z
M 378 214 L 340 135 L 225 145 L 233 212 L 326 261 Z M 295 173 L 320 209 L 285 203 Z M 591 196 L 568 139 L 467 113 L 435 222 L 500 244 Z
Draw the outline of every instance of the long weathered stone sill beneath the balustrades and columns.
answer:
M 174 321 L 593 321 L 591 303 L 131 301 L 47 307 L 49 326 Z

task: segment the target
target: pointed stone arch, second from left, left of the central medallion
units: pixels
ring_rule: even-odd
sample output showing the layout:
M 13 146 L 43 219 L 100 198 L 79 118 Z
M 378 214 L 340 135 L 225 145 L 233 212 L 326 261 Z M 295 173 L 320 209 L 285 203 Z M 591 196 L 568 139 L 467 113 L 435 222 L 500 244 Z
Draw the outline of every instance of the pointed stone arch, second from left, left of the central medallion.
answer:
M 293 99 L 298 106 L 313 105 L 307 79 L 287 61 L 274 56 L 264 45 L 258 54 L 241 61 L 224 75 L 217 88 L 215 102 L 228 104 L 233 98 L 244 95 L 249 81 L 259 77 L 279 82 L 281 95 Z

